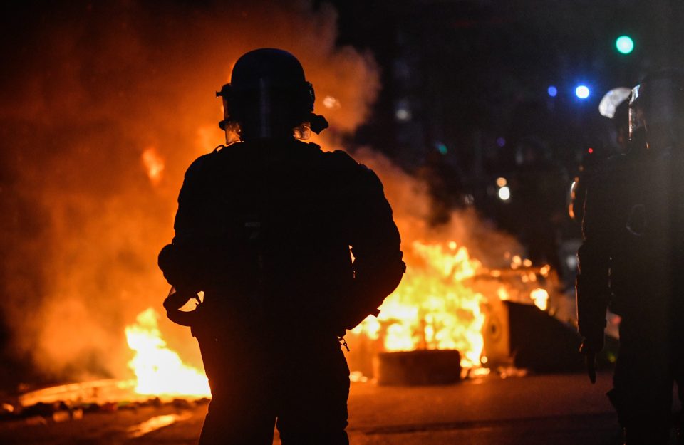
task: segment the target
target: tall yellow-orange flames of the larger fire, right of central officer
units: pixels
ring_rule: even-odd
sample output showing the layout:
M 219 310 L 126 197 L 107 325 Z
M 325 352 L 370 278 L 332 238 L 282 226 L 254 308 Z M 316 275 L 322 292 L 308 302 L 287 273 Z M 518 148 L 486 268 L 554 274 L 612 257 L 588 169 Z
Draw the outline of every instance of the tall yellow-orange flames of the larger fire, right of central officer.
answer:
M 413 241 L 406 276 L 382 306 L 378 318 L 368 317 L 352 332 L 375 340 L 386 351 L 457 349 L 461 365 L 480 365 L 484 295 L 464 284 L 482 268 L 467 248 L 450 241 Z

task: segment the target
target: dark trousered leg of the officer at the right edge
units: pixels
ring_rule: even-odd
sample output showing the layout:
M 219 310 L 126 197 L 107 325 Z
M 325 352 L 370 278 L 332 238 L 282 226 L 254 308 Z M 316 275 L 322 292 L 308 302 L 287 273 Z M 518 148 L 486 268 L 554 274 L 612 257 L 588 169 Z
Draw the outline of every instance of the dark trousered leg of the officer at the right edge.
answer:
M 646 314 L 621 321 L 620 351 L 608 397 L 628 445 L 665 444 L 670 433 L 673 376 L 668 323 L 655 320 Z

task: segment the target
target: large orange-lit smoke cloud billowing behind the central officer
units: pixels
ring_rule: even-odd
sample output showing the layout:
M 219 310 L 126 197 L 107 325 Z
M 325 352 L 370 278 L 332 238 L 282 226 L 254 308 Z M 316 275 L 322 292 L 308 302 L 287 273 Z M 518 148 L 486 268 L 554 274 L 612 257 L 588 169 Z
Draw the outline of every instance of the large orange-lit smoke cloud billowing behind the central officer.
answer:
M 366 119 L 377 95 L 373 57 L 336 46 L 330 6 L 189 5 L 70 2 L 4 14 L 5 353 L 31 357 L 48 378 L 128 375 L 124 327 L 145 308 L 160 308 L 167 292 L 157 253 L 172 238 L 185 169 L 223 140 L 214 91 L 239 56 L 276 47 L 300 59 L 316 88 L 316 111 L 331 122 L 321 141 L 330 148 Z M 403 233 L 459 242 L 479 236 L 498 247 L 482 241 L 476 254 L 492 258 L 514 248 L 489 231 L 477 234 L 472 214 L 430 229 L 425 184 L 372 150 L 356 157 L 385 182 Z M 170 322 L 162 330 L 199 364 L 187 330 Z

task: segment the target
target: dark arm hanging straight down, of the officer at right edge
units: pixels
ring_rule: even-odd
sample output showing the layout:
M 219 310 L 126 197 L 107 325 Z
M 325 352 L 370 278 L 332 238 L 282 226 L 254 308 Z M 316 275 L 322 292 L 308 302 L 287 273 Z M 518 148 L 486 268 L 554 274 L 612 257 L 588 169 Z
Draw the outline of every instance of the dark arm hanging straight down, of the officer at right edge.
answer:
M 588 188 L 584 203 L 582 231 L 584 241 L 577 252 L 579 260 L 576 280 L 577 321 L 584 337 L 583 352 L 603 349 L 606 309 L 611 291 L 608 286 L 611 239 L 615 236 L 615 221 L 611 216 L 614 202 L 603 196 L 598 187 Z

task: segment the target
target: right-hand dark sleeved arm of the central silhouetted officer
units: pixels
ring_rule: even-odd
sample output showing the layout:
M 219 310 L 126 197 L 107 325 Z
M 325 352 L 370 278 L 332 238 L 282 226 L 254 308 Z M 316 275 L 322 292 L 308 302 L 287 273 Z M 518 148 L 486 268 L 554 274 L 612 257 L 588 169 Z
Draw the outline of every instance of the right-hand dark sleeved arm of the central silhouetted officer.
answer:
M 400 236 L 392 209 L 375 173 L 358 166 L 350 221 L 350 244 L 354 256 L 352 300 L 348 301 L 346 328 L 351 329 L 368 315 L 378 315 L 378 306 L 399 285 L 405 271 Z

